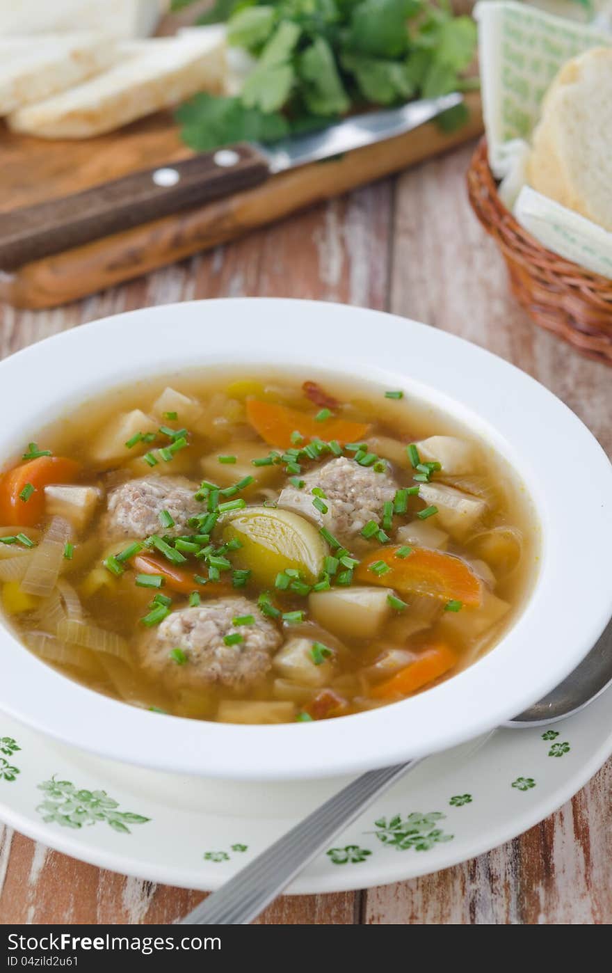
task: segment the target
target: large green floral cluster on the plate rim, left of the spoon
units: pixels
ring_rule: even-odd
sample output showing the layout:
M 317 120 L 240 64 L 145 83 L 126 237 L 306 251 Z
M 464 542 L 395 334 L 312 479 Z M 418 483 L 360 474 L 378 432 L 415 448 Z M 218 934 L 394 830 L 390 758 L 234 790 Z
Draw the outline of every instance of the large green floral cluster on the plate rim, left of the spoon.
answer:
M 36 811 L 44 821 L 60 824 L 64 828 L 82 828 L 84 824 L 106 821 L 122 834 L 131 834 L 128 824 L 145 824 L 151 820 L 132 811 L 118 811 L 119 802 L 102 790 L 78 790 L 70 780 L 44 780 L 38 789 L 46 794 L 46 800 Z

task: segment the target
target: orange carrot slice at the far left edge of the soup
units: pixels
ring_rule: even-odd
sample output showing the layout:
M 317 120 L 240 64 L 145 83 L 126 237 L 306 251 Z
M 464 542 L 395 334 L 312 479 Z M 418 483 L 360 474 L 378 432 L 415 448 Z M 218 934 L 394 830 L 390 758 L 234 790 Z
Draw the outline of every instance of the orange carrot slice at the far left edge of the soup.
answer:
M 74 483 L 80 470 L 75 459 L 38 456 L 4 473 L 0 477 L 0 523 L 33 527 L 45 512 L 45 486 Z M 23 490 L 25 494 L 20 496 Z

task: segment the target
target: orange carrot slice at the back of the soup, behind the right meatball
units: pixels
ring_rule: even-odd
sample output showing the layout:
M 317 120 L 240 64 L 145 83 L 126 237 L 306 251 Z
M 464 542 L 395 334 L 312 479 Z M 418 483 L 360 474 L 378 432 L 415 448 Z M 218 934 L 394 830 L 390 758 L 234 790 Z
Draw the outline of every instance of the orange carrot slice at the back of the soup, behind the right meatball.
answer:
M 262 402 L 261 399 L 247 400 L 246 415 L 263 440 L 283 450 L 295 445 L 291 439 L 293 432 L 301 433 L 306 440 L 318 436 L 327 441 L 336 439 L 339 443 L 358 443 L 370 429 L 365 422 L 349 422 L 333 415 L 317 422 L 314 415 L 275 402 Z

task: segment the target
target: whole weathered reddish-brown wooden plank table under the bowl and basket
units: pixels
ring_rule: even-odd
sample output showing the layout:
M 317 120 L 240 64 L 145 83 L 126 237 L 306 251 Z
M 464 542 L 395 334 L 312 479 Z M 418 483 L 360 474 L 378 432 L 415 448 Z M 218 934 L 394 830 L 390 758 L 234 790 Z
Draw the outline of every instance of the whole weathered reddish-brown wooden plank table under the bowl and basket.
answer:
M 471 147 L 231 246 L 53 311 L 0 308 L 0 354 L 93 318 L 197 298 L 318 298 L 461 335 L 551 388 L 612 451 L 612 372 L 535 328 L 469 208 Z M 489 854 L 412 882 L 286 897 L 263 922 L 608 923 L 612 762 L 557 814 Z M 0 922 L 172 922 L 201 893 L 126 879 L 0 826 Z

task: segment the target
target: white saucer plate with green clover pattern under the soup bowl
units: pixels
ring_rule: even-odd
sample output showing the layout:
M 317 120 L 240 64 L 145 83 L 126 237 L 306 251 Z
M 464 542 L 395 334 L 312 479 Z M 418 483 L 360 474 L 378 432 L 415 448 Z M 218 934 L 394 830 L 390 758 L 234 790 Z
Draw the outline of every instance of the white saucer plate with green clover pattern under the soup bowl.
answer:
M 497 731 L 430 758 L 340 834 L 289 891 L 412 879 L 521 834 L 610 755 L 611 701 L 605 693 L 549 731 Z M 153 882 L 216 888 L 342 782 L 222 783 L 138 770 L 0 714 L 0 816 L 75 858 Z M 72 826 L 59 823 L 68 812 Z

